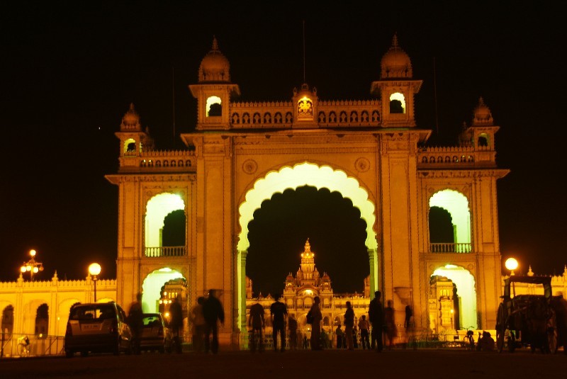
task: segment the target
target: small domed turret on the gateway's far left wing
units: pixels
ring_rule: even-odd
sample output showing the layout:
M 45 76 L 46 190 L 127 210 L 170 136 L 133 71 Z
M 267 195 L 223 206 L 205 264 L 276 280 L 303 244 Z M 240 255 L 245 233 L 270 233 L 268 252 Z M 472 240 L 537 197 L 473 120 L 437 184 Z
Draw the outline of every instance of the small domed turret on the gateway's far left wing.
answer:
M 149 130 L 146 128 L 142 131 L 140 115 L 135 111 L 133 103 L 130 103 L 130 108 L 124 113 L 120 132 L 116 132 L 115 135 L 120 140 L 120 167 L 137 166 L 135 158 L 139 157 L 142 151 L 154 148 Z

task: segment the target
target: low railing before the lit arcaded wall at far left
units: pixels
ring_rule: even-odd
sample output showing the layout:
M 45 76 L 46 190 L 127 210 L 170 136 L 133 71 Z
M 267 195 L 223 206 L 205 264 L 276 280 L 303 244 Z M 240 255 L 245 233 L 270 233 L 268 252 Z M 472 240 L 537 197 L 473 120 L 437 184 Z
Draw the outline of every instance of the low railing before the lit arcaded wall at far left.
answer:
M 23 343 L 28 336 L 29 344 Z M 34 336 L 6 333 L 1 338 L 0 358 L 25 358 L 28 356 L 55 356 L 64 353 L 63 336 Z M 18 346 L 18 344 L 23 344 Z M 26 347 L 24 351 L 23 347 Z

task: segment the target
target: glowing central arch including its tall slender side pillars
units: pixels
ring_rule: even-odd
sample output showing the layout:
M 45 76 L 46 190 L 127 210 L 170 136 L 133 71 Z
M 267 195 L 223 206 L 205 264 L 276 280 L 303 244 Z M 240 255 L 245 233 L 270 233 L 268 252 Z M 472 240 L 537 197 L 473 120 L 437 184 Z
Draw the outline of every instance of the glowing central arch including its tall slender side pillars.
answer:
M 378 269 L 376 253 L 378 242 L 374 232 L 376 221 L 376 207 L 369 200 L 368 192 L 360 186 L 357 179 L 347 176 L 342 170 L 334 170 L 330 166 L 303 162 L 292 166 L 283 166 L 279 171 L 271 171 L 262 179 L 254 183 L 245 196 L 245 201 L 239 208 L 240 234 L 238 235 L 238 303 L 239 324 L 245 329 L 245 277 L 246 277 L 246 254 L 250 242 L 248 240 L 248 224 L 254 218 L 254 211 L 262 206 L 264 200 L 269 200 L 274 193 L 283 193 L 286 189 L 296 189 L 301 186 L 313 186 L 318 190 L 327 188 L 330 191 L 341 193 L 344 198 L 349 198 L 352 205 L 360 210 L 360 217 L 366 222 L 366 248 L 369 251 L 370 261 L 370 286 L 371 293 L 378 289 Z

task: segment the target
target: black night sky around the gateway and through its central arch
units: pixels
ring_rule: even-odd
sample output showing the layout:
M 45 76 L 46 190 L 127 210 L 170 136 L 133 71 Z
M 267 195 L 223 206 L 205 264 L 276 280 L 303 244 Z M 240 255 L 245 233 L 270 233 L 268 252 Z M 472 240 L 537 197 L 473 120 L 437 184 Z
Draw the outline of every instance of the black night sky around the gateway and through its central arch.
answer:
M 322 100 L 371 98 L 394 33 L 414 79 L 424 80 L 416 118 L 433 130 L 431 145 L 456 145 L 483 96 L 501 127 L 498 165 L 511 169 L 498 181 L 503 259 L 515 256 L 520 272 L 529 264 L 536 273 L 563 272 L 567 87 L 559 55 L 567 33 L 551 2 L 264 3 L 0 6 L 1 281 L 18 277 L 32 248 L 45 266 L 40 279 L 55 270 L 84 278 L 92 261 L 103 266 L 102 278 L 116 278 L 118 187 L 103 176 L 118 169 L 114 132 L 130 102 L 158 149 L 182 148 L 179 133 L 196 123 L 187 85 L 197 82 L 213 35 L 240 101 L 288 101 L 303 83 L 303 21 L 305 79 Z M 336 292 L 362 290 L 369 268 L 358 210 L 337 193 L 315 192 L 286 191 L 255 214 L 248 256 L 255 290 L 281 290 L 307 238 Z

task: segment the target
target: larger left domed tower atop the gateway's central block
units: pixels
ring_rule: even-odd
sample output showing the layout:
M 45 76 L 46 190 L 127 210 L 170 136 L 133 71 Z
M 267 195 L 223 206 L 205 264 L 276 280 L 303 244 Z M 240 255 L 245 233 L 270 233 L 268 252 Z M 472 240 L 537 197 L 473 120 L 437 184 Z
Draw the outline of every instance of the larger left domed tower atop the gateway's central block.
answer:
M 218 50 L 217 39 L 201 60 L 198 84 L 189 85 L 197 99 L 197 130 L 228 130 L 230 126 L 230 98 L 240 95 L 237 84 L 230 82 L 230 64 Z

